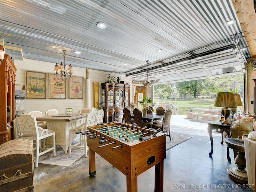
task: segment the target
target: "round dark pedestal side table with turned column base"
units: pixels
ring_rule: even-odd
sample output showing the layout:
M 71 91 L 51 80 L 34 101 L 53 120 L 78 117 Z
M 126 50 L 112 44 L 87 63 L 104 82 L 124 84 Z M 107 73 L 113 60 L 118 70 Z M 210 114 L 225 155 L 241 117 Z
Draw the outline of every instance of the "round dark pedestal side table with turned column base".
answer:
M 241 183 L 247 183 L 246 161 L 244 156 L 244 144 L 242 142 L 236 142 L 236 138 L 225 139 L 225 143 L 228 148 L 238 150 L 238 155 L 235 158 L 236 167 L 228 168 L 228 176 L 233 180 Z

